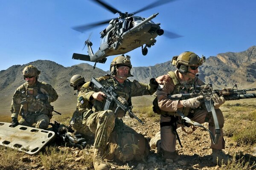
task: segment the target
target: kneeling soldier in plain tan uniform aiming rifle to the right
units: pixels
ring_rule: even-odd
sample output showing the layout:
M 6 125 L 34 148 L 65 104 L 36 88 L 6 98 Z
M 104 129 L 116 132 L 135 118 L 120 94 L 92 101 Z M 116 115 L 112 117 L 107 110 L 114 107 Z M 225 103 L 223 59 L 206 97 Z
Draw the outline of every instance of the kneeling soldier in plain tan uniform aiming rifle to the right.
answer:
M 157 101 L 161 110 L 160 133 L 157 133 L 157 135 L 151 139 L 150 145 L 152 148 L 157 147 L 158 151 L 161 150 L 164 160 L 172 159 L 177 161 L 179 159 L 179 155 L 176 152 L 175 133 L 177 132 L 176 128 L 184 125 L 183 119 L 176 114 L 177 110 L 181 111 L 184 115 L 187 115 L 195 122 L 209 122 L 209 130 L 211 130 L 214 135 L 215 127 L 212 113 L 208 113 L 206 108 L 203 106 L 199 107 L 201 104 L 199 100 L 202 99 L 203 96 L 186 100 L 173 100 L 168 99 L 167 97 L 169 94 L 191 93 L 189 92 L 191 87 L 195 87 L 196 85 L 205 85 L 205 83 L 196 76 L 198 73 L 198 67 L 203 64 L 205 58 L 200 58 L 195 53 L 187 51 L 180 54 L 178 57 L 174 57 L 173 61 L 173 65 L 176 65 L 177 70 L 175 72 L 170 71 L 168 73 L 171 77 L 171 81 L 164 82 L 163 85 L 159 85 L 157 88 Z M 218 144 L 213 144 L 212 142 L 210 146 L 210 148 L 212 148 L 212 161 L 216 164 L 218 157 L 219 162 L 223 161 L 224 163 L 227 163 L 229 160 L 228 156 L 222 152 L 222 149 L 225 148 L 222 130 L 222 127 L 224 126 L 224 117 L 219 109 L 219 107 L 225 102 L 225 99 L 217 94 L 212 96 L 212 99 L 214 101 L 214 108 L 221 131 Z

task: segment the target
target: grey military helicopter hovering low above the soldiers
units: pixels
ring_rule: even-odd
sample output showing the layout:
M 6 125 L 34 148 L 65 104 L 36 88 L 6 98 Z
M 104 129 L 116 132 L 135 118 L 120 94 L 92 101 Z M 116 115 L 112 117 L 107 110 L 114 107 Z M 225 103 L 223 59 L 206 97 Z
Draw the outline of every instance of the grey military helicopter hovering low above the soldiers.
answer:
M 154 3 L 141 8 L 133 13 L 122 13 L 121 11 L 113 8 L 112 6 L 106 4 L 102 0 L 92 0 L 99 3 L 101 6 L 107 8 L 113 14 L 118 13 L 118 18 L 113 18 L 112 20 L 105 20 L 98 23 L 92 23 L 82 26 L 73 27 L 74 30 L 79 32 L 87 31 L 95 26 L 100 26 L 102 24 L 109 25 L 100 32 L 101 42 L 99 50 L 93 53 L 89 38 L 84 42 L 84 46 L 88 47 L 88 55 L 84 54 L 73 54 L 73 59 L 79 59 L 84 61 L 95 62 L 93 69 L 96 67 L 96 63 L 105 63 L 108 56 L 125 54 L 135 48 L 141 47 L 142 54 L 145 56 L 148 53 L 148 48 L 156 43 L 155 38 L 157 36 L 163 35 L 164 31 L 160 28 L 160 23 L 154 23 L 151 19 L 155 18 L 158 13 L 152 14 L 148 18 L 134 16 L 141 11 L 163 5 L 164 3 L 169 3 L 174 0 L 158 0 Z M 168 32 L 169 38 L 182 37 L 178 34 Z M 145 44 L 145 45 L 144 45 Z M 144 47 L 143 47 L 144 45 Z

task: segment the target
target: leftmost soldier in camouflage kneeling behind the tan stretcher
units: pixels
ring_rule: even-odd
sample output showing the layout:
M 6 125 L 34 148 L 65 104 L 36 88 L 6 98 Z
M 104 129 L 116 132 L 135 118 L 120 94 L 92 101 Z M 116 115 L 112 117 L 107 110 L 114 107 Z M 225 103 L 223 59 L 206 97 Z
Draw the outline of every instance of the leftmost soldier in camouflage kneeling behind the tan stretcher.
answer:
M 26 66 L 23 77 L 26 82 L 20 85 L 12 97 L 12 126 L 25 125 L 41 129 L 47 129 L 52 117 L 50 102 L 58 99 L 58 94 L 51 85 L 39 82 L 41 73 L 34 65 Z M 18 115 L 22 116 L 18 122 Z

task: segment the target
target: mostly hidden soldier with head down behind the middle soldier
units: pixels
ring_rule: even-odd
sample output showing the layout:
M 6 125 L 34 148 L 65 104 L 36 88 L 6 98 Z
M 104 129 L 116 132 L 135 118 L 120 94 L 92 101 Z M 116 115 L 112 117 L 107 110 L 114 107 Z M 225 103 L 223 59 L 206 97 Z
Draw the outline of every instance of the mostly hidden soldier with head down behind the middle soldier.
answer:
M 75 95 L 79 94 L 82 85 L 84 85 L 85 83 L 86 82 L 84 80 L 84 77 L 82 77 L 80 74 L 76 74 L 71 77 L 70 86 L 73 87 L 74 91 L 77 90 L 77 93 L 75 93 Z M 80 133 L 83 136 L 86 136 L 86 138 L 92 138 L 94 137 L 94 133 L 89 130 L 89 127 L 82 124 L 81 117 L 81 113 L 89 110 L 91 108 L 91 105 L 89 104 L 89 102 L 87 103 L 87 105 L 85 105 L 84 103 L 84 107 L 81 107 L 80 105 L 81 104 L 78 102 L 76 111 L 74 111 L 73 116 L 70 120 L 70 125 L 76 130 L 76 132 Z

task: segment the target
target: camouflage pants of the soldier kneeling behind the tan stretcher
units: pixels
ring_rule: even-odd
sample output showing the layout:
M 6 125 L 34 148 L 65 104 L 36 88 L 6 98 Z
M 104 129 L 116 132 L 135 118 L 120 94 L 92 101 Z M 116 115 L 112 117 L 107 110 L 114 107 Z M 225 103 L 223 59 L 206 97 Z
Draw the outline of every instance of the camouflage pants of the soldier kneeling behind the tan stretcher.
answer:
M 36 128 L 47 129 L 50 122 L 50 118 L 46 114 L 36 114 L 36 113 L 28 113 L 26 118 L 21 118 L 19 120 L 20 125 L 34 127 L 35 123 Z

